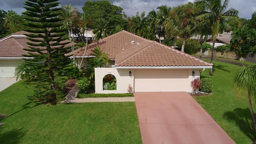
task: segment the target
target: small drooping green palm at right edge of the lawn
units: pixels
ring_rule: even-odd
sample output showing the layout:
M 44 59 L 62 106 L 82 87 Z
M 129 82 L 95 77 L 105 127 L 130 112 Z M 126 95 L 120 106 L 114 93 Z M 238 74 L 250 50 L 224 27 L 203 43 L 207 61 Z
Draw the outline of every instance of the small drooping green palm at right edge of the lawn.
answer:
M 256 119 L 252 109 L 251 98 L 256 98 L 256 65 L 252 67 L 244 67 L 234 74 L 234 88 L 236 94 L 248 95 L 250 112 L 254 124 L 254 132 L 256 134 Z

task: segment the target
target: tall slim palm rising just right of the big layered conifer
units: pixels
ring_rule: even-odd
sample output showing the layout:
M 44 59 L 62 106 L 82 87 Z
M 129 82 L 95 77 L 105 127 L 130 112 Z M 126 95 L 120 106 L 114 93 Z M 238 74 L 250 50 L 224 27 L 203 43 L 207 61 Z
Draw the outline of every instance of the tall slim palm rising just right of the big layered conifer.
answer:
M 72 20 L 77 16 L 78 10 L 76 7 L 72 7 L 72 3 L 69 5 L 62 5 L 62 10 L 60 10 L 60 18 L 64 19 L 64 23 L 66 24 L 66 28 L 68 29 L 68 37 L 71 41 L 71 47 L 73 52 L 73 64 L 75 64 L 75 56 L 74 56 L 74 36 L 71 38 L 72 32 Z

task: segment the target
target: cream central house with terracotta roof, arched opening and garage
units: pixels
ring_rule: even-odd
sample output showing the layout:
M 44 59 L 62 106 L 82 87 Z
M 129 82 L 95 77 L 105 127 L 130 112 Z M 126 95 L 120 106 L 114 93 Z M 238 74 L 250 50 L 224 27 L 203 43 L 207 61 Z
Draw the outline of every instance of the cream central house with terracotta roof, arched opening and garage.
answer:
M 204 60 L 125 30 L 88 44 L 85 54 L 85 47 L 75 50 L 75 63 L 84 57 L 85 66 L 96 46 L 110 58 L 108 68 L 95 68 L 96 93 L 127 93 L 129 86 L 134 92 L 192 92 L 190 83 L 200 77 L 200 69 L 212 68 Z M 104 90 L 108 74 L 116 77 L 116 90 Z

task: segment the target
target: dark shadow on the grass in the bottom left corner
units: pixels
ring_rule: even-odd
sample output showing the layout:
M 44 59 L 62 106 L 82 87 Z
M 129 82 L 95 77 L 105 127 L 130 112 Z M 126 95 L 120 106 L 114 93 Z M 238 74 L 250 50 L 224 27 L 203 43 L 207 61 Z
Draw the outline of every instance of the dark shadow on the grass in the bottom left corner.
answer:
M 20 139 L 26 134 L 22 129 L 10 130 L 0 135 L 0 144 L 19 144 Z

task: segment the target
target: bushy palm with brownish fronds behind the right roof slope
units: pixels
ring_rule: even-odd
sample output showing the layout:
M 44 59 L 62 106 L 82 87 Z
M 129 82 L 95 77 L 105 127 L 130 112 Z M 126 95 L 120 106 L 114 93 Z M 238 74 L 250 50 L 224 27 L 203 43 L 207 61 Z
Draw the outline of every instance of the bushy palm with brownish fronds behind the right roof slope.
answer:
M 172 35 L 178 35 L 183 38 L 181 51 L 184 52 L 186 39 L 188 39 L 196 30 L 196 16 L 198 16 L 200 9 L 189 2 L 175 7 L 170 12 L 170 26 Z

